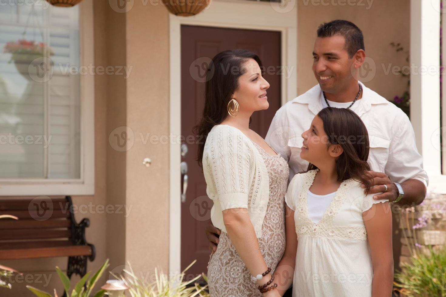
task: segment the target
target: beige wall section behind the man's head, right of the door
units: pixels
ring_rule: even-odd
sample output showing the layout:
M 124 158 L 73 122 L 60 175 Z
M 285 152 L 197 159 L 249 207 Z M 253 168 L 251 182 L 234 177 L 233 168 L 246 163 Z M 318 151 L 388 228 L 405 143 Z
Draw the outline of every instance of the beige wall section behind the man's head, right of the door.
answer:
M 339 3 L 343 2 L 361 6 L 348 4 L 340 6 Z M 368 2 L 372 4 L 369 5 Z M 386 99 L 393 100 L 395 95 L 403 94 L 407 87 L 407 79 L 392 74 L 392 71 L 386 75 L 384 69 L 387 70 L 389 66 L 395 65 L 401 67 L 409 65 L 405 61 L 406 55 L 401 52 L 396 53 L 389 45 L 390 42 L 400 42 L 401 46 L 409 50 L 410 4 L 407 0 L 300 0 L 297 3 L 297 94 L 303 94 L 317 84 L 311 70 L 313 64 L 311 53 L 318 25 L 336 19 L 349 20 L 363 32 L 366 55 L 376 63 L 376 75 L 371 81 L 365 82 L 365 85 Z

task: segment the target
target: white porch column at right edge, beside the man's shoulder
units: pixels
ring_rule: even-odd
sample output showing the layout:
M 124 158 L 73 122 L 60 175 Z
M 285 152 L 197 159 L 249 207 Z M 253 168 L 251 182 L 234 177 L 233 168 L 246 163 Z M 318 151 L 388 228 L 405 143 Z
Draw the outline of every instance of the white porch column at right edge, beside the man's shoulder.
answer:
M 440 120 L 442 116 L 446 120 L 446 111 L 443 109 L 443 115 L 440 114 L 440 72 L 430 70 L 432 66 L 440 65 L 440 17 L 445 20 L 444 8 L 440 9 L 440 2 L 410 2 L 410 64 L 419 67 L 414 70 L 417 73 L 410 76 L 410 121 L 415 132 L 417 149 L 423 156 L 423 167 L 429 176 L 428 194 L 430 191 L 446 194 L 446 175 L 441 168 L 442 162 L 446 164 L 446 158 L 442 160 L 444 146 L 441 146 L 444 131 L 440 130 Z M 443 12 L 442 15 L 440 11 Z M 444 23 L 442 26 L 445 28 Z M 443 46 L 443 59 L 445 49 Z M 428 70 L 421 73 L 421 67 Z M 442 83 L 446 86 L 446 81 L 443 80 Z M 442 96 L 446 98 L 444 91 Z

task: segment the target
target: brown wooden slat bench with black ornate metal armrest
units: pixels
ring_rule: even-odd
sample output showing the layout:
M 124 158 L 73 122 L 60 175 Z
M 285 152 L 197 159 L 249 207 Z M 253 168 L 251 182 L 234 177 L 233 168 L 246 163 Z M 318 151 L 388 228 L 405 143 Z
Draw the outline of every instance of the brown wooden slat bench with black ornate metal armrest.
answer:
M 95 259 L 95 246 L 85 239 L 90 220 L 74 220 L 70 196 L 0 199 L 0 260 L 68 257 L 67 276 L 87 273 L 87 258 Z

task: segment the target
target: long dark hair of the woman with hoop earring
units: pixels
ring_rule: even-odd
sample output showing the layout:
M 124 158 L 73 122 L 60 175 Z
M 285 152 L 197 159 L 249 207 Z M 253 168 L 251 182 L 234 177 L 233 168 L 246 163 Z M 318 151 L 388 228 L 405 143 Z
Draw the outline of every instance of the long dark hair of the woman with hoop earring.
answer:
M 202 167 L 203 149 L 212 127 L 228 116 L 227 104 L 239 86 L 239 77 L 246 72 L 243 64 L 254 59 L 262 69 L 262 62 L 255 54 L 245 49 L 226 50 L 218 53 L 206 73 L 205 101 L 200 123 L 194 126 L 198 142 L 198 165 Z M 251 123 L 251 119 L 249 119 Z

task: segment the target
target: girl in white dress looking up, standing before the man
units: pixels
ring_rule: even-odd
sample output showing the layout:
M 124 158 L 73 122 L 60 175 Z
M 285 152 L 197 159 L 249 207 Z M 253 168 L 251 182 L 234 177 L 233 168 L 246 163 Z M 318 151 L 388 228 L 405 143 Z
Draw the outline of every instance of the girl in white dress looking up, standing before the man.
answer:
M 296 297 L 391 296 L 392 214 L 388 200 L 368 195 L 366 127 L 351 110 L 327 107 L 302 138 L 301 158 L 310 165 L 293 177 L 285 196 L 278 291 L 291 285 L 284 276 L 294 269 Z

